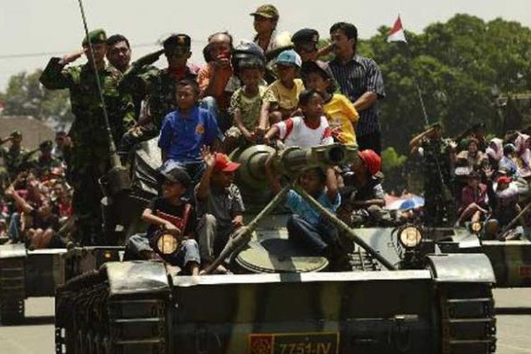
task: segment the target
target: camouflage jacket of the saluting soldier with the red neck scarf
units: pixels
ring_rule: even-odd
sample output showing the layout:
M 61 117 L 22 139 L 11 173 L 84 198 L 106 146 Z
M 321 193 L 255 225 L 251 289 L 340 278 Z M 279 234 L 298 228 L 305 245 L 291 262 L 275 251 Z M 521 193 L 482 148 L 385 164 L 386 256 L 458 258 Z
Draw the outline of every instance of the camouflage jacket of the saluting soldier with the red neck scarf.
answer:
M 195 80 L 195 72 L 190 67 L 187 69 L 181 79 Z M 124 73 L 118 88 L 121 93 L 144 97 L 149 116 L 160 129 L 164 117 L 177 108 L 175 86 L 178 80 L 167 68 L 138 67 L 133 64 Z

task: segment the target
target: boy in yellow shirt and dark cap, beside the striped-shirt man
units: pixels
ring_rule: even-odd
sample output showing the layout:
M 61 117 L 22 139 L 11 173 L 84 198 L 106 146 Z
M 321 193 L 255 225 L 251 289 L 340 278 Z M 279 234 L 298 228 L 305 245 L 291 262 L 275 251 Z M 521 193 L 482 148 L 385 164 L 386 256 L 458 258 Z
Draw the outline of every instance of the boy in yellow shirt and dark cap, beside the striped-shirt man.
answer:
M 308 89 L 319 91 L 324 98 L 324 115 L 329 120 L 333 138 L 343 144 L 356 144 L 355 127 L 358 111 L 346 96 L 336 90 L 332 72 L 325 62 L 304 62 L 302 78 Z

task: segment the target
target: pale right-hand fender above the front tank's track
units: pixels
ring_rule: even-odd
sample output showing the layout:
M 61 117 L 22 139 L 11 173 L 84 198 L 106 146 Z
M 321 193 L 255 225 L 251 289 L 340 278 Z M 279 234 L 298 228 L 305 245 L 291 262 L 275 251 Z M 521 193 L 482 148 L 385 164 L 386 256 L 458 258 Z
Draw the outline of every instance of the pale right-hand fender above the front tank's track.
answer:
M 438 282 L 496 282 L 491 262 L 483 253 L 429 255 L 428 267 Z

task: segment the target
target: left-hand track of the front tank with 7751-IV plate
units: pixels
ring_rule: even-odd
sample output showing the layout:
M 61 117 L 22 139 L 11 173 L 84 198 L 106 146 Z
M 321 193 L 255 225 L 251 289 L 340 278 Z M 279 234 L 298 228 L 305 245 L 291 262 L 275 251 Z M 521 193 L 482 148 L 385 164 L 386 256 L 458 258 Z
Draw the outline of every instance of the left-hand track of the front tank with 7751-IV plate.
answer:
M 55 353 L 170 353 L 167 304 L 161 295 L 111 297 L 105 271 L 73 278 L 57 290 Z

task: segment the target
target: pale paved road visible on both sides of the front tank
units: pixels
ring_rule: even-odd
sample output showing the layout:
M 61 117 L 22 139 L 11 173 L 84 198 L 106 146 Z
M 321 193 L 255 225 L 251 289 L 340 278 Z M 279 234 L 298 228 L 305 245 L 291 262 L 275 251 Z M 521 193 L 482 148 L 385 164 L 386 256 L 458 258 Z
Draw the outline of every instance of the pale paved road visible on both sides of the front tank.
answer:
M 527 314 L 498 314 L 498 354 L 531 354 L 531 289 L 495 290 L 496 306 L 527 307 Z M 24 326 L 0 326 L 0 353 L 54 352 L 52 298 L 26 301 Z

